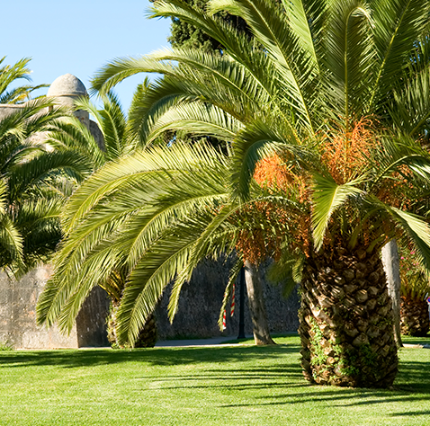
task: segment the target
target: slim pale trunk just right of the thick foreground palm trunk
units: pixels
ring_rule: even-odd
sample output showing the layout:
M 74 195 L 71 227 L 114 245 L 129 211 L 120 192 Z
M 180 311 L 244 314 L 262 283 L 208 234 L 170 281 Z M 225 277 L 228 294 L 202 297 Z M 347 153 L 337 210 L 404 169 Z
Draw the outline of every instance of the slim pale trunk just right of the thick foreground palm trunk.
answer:
M 394 338 L 398 348 L 403 346 L 400 333 L 400 263 L 399 250 L 396 240 L 391 240 L 382 247 L 382 263 L 389 287 L 389 294 L 393 304 Z

